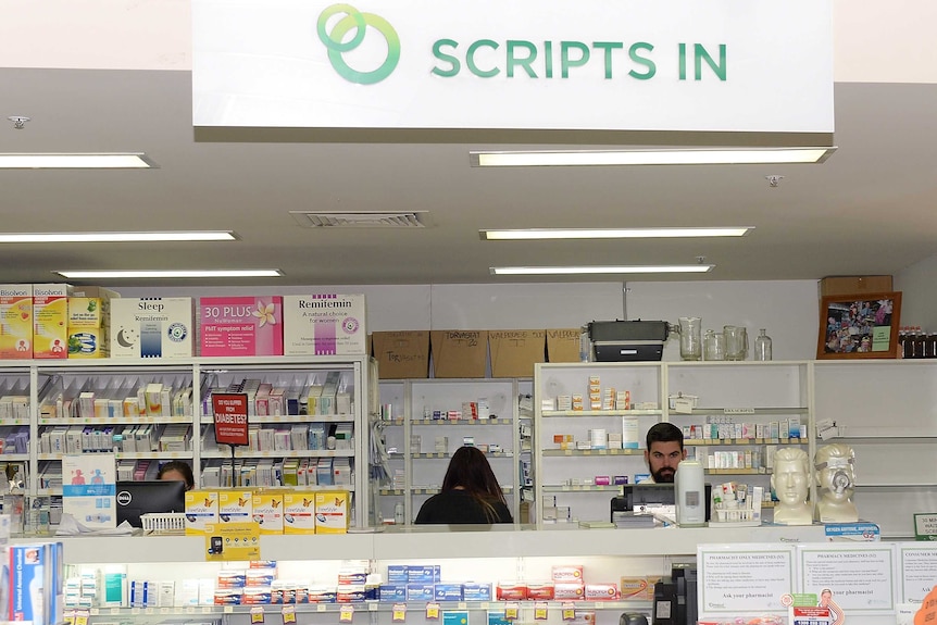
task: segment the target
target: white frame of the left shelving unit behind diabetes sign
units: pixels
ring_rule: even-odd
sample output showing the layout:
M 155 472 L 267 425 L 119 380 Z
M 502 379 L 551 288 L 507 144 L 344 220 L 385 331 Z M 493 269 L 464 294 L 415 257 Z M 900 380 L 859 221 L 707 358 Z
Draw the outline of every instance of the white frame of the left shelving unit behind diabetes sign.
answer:
M 29 429 L 28 453 L 0 454 L 3 461 L 28 461 L 29 495 L 58 495 L 61 487 L 40 488 L 40 470 L 61 462 L 63 452 L 40 452 L 40 436 L 48 428 L 64 428 L 67 426 L 96 425 L 191 425 L 190 443 L 184 451 L 118 451 L 120 460 L 170 460 L 183 459 L 192 463 L 196 483 L 201 483 L 204 463 L 212 459 L 229 459 L 230 451 L 215 447 L 204 448 L 207 430 L 211 430 L 212 416 L 203 413 L 200 398 L 210 392 L 211 388 L 226 386 L 233 382 L 246 378 L 260 379 L 267 383 L 303 384 L 310 379 L 324 378 L 328 373 L 337 373 L 346 392 L 349 393 L 351 412 L 348 414 L 329 415 L 289 415 L 277 417 L 251 416 L 250 424 L 297 424 L 297 423 L 346 423 L 351 426 L 351 448 L 336 450 L 277 450 L 251 451 L 237 449 L 236 458 L 243 459 L 303 459 L 303 458 L 347 458 L 350 460 L 353 478 L 351 484 L 342 487 L 352 492 L 367 492 L 367 428 L 364 416 L 367 399 L 376 396 L 368 388 L 376 385 L 376 378 L 371 375 L 373 368 L 370 359 L 360 357 L 259 357 L 247 359 L 173 359 L 173 360 L 137 360 L 137 359 L 102 359 L 85 361 L 5 361 L 0 362 L 0 379 L 7 389 L 15 389 L 16 395 L 28 397 L 28 418 L 22 416 L 4 416 L 0 426 Z M 178 390 L 182 387 L 191 388 L 191 401 L 183 410 L 183 414 L 172 416 L 60 416 L 57 415 L 55 398 L 64 396 L 74 399 L 82 391 L 93 391 L 99 397 L 115 397 L 138 384 L 163 383 Z M 113 391 L 113 392 L 112 392 Z M 210 436 L 208 438 L 211 438 Z M 303 487 L 305 488 L 305 487 Z M 310 486 L 309 489 L 318 487 Z M 367 497 L 354 498 L 352 525 L 366 525 L 365 520 L 371 502 Z

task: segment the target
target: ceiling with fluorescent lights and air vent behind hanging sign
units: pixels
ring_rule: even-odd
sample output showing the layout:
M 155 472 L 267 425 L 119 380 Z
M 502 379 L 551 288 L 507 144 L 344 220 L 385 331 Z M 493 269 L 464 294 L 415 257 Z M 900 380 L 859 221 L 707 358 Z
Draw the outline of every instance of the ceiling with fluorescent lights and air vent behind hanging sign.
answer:
M 0 150 L 143 151 L 159 164 L 0 171 L 0 229 L 232 229 L 240 237 L 7 246 L 0 282 L 55 282 L 51 272 L 62 268 L 277 267 L 284 277 L 264 284 L 507 283 L 519 280 L 488 267 L 683 264 L 697 257 L 715 270 L 674 279 L 809 279 L 894 274 L 937 253 L 937 85 L 837 84 L 839 149 L 822 165 L 484 170 L 470 167 L 471 149 L 514 146 L 375 143 L 366 136 L 349 143 L 196 141 L 190 82 L 180 71 L 0 70 Z M 14 114 L 32 121 L 14 129 L 5 121 Z M 770 188 L 769 175 L 784 179 Z M 297 210 L 428 211 L 430 226 L 312 230 L 290 216 Z M 723 240 L 478 237 L 480 228 L 737 225 L 757 229 Z M 584 278 L 542 278 L 563 279 Z M 245 283 L 258 280 L 211 282 Z

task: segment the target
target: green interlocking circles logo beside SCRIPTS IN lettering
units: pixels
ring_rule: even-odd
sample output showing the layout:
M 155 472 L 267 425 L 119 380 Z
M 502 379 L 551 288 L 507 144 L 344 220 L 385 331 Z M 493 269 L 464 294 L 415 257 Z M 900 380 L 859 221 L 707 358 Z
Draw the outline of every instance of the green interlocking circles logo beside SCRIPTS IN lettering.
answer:
M 338 13 L 345 13 L 345 17 L 338 21 L 332 33 L 327 33 L 326 22 L 329 17 Z M 364 34 L 371 26 L 384 36 L 387 41 L 387 59 L 377 70 L 372 72 L 359 72 L 352 70 L 345 62 L 342 53 L 354 50 L 361 42 L 364 41 Z M 354 28 L 354 36 L 345 41 L 345 36 Z M 338 74 L 349 83 L 358 85 L 374 85 L 379 83 L 393 72 L 397 67 L 397 62 L 400 61 L 400 37 L 397 36 L 397 30 L 390 25 L 387 20 L 375 15 L 374 13 L 362 13 L 351 4 L 333 4 L 325 9 L 318 16 L 316 25 L 318 39 L 328 48 L 328 60 L 332 66 Z

